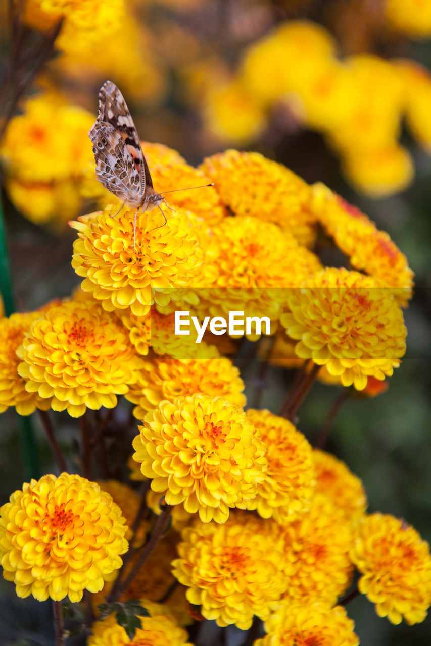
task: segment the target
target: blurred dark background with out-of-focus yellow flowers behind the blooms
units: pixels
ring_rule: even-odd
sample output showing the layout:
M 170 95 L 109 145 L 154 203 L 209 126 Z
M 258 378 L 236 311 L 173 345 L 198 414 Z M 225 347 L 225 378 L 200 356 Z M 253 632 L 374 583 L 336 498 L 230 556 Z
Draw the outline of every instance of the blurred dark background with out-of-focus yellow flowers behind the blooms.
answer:
M 429 540 L 431 1 L 84 5 L 0 4 L 2 198 L 16 308 L 69 295 L 78 283 L 66 223 L 102 199 L 87 131 L 107 78 L 124 93 L 142 140 L 177 149 L 192 164 L 235 147 L 326 183 L 390 233 L 416 275 L 401 370 L 386 393 L 346 401 L 328 449 L 362 478 L 371 512 L 404 517 Z M 256 361 L 244 372 L 251 405 L 260 388 Z M 289 371 L 271 366 L 261 406 L 278 410 L 290 380 Z M 337 392 L 318 383 L 302 407 L 298 426 L 311 441 Z M 54 423 L 70 450 L 74 424 L 60 413 Z M 0 503 L 29 470 L 38 477 L 54 468 L 34 424 L 37 450 L 26 457 L 16 414 L 2 415 Z M 16 599 L 4 582 L 1 594 L 2 643 L 52 643 L 49 608 Z M 365 598 L 348 612 L 368 646 L 430 643 L 430 618 L 392 626 Z M 16 617 L 20 641 L 12 638 Z M 47 637 L 36 638 L 44 630 Z M 238 631 L 229 640 L 238 642 Z

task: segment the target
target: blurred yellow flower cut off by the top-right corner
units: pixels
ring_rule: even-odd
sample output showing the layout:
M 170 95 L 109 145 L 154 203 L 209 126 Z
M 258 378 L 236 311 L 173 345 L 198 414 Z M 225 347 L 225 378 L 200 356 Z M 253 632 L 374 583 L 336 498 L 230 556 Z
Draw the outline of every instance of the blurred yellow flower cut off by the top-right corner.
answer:
M 431 5 L 428 0 L 386 0 L 386 19 L 402 34 L 413 39 L 431 36 Z

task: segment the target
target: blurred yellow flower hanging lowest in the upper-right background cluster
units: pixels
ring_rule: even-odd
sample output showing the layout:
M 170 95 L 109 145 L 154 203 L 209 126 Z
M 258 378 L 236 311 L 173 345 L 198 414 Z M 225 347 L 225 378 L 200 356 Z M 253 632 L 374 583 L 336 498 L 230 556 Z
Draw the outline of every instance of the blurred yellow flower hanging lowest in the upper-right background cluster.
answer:
M 414 176 L 410 152 L 395 142 L 384 148 L 349 152 L 343 166 L 359 191 L 373 198 L 404 191 Z

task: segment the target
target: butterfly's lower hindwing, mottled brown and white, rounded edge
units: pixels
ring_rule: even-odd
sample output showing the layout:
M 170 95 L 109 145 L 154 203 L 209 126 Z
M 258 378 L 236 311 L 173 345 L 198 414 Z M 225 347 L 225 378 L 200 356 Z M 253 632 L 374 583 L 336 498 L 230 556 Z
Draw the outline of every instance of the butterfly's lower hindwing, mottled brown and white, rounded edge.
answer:
M 118 130 L 109 123 L 96 121 L 89 138 L 99 182 L 123 202 L 139 205 L 142 177 Z

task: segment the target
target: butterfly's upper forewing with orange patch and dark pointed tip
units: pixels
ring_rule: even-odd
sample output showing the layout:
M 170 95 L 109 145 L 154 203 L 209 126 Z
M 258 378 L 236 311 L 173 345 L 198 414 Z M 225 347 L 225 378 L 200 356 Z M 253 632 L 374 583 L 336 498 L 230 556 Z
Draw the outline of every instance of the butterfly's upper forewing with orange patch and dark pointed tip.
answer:
M 109 123 L 120 134 L 127 151 L 135 163 L 140 176 L 140 193 L 144 196 L 146 185 L 153 186 L 135 123 L 131 118 L 126 101 L 112 81 L 106 81 L 99 91 L 99 114 L 97 121 Z

